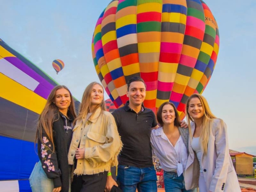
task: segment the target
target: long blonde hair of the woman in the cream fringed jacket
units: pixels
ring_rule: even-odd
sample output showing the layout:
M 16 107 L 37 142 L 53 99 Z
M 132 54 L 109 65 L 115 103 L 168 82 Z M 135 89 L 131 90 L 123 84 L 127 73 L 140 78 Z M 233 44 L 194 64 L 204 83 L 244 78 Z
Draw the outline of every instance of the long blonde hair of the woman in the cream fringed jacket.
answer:
M 99 84 L 98 82 L 92 82 L 90 83 L 84 90 L 84 94 L 82 97 L 82 102 L 80 104 L 80 108 L 79 108 L 79 112 L 78 112 L 78 116 L 76 117 L 76 119 L 74 120 L 74 123 L 76 123 L 78 120 L 81 120 L 82 118 L 86 117 L 87 114 L 89 113 L 90 110 L 90 105 L 91 105 L 91 93 L 92 93 L 92 88 L 94 85 L 100 85 L 102 87 L 103 90 L 103 98 L 102 98 L 102 102 L 100 104 L 98 104 L 98 106 L 96 106 L 96 108 L 94 109 L 93 113 L 96 111 L 96 109 L 98 107 L 101 108 L 101 111 L 105 111 L 105 102 L 104 102 L 104 88 L 101 84 Z

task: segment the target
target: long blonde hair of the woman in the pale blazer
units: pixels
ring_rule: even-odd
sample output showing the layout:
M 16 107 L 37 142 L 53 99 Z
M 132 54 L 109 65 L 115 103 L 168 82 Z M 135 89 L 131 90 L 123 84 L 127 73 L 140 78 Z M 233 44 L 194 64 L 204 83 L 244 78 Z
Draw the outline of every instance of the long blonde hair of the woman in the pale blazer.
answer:
M 208 105 L 208 102 L 206 101 L 206 98 L 200 94 L 192 94 L 187 101 L 186 104 L 186 117 L 187 117 L 187 122 L 188 122 L 188 128 L 189 128 L 189 133 L 190 133 L 190 139 L 192 140 L 192 133 L 191 133 L 191 126 L 190 123 L 194 122 L 194 119 L 190 116 L 188 113 L 188 108 L 189 108 L 189 103 L 192 98 L 198 98 L 202 104 L 204 116 L 202 116 L 202 132 L 200 134 L 200 143 L 201 143 L 201 148 L 204 154 L 207 153 L 207 148 L 208 148 L 208 141 L 209 141 L 209 135 L 210 135 L 210 130 L 212 129 L 213 121 L 217 117 L 212 114 L 210 107 Z

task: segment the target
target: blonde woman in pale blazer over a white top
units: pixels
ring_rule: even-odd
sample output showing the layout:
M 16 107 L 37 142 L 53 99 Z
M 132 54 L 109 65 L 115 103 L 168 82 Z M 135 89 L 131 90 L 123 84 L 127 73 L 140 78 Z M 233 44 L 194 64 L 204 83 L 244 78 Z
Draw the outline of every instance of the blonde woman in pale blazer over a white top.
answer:
M 186 113 L 190 131 L 186 189 L 199 182 L 200 192 L 241 192 L 229 155 L 226 124 L 212 114 L 200 94 L 190 96 Z

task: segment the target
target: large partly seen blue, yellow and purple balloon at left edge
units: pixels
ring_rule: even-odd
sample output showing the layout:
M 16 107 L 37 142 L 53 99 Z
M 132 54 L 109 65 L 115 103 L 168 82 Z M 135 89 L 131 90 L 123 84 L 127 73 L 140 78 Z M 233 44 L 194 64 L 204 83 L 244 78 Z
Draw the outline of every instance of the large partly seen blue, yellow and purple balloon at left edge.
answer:
M 28 178 L 39 160 L 36 122 L 58 85 L 28 59 L 0 40 L 0 191 L 29 192 Z M 79 102 L 76 101 L 76 108 Z

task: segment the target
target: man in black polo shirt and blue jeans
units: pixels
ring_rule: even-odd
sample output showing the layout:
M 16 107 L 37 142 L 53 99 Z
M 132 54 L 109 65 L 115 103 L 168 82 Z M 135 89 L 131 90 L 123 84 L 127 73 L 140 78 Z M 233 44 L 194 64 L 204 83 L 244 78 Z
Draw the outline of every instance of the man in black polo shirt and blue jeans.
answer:
M 129 101 L 112 115 L 116 120 L 118 132 L 124 144 L 118 158 L 117 180 L 124 192 L 155 192 L 156 171 L 152 162 L 150 132 L 158 128 L 155 114 L 145 108 L 142 102 L 146 96 L 146 85 L 140 77 L 133 77 L 128 82 L 126 94 Z M 116 182 L 108 176 L 106 190 Z

